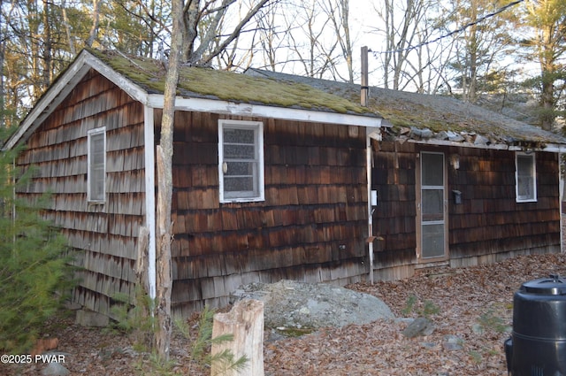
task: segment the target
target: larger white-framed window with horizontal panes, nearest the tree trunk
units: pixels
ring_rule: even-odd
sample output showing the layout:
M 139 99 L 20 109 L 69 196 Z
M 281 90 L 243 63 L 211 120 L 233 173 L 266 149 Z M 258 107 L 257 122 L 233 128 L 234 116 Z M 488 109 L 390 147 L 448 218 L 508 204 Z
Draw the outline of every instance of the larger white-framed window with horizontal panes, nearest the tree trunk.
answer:
M 220 202 L 264 200 L 264 124 L 218 120 Z

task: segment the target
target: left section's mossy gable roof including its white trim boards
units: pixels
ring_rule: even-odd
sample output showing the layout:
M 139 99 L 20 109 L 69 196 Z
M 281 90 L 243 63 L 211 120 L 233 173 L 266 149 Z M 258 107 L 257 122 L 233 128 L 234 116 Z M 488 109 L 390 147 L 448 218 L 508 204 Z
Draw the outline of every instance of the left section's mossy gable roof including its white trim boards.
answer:
M 103 74 L 142 104 L 163 108 L 163 62 L 129 57 L 118 51 L 82 50 L 34 104 L 2 149 L 11 149 L 27 140 L 90 69 Z M 378 113 L 310 85 L 191 66 L 180 68 L 175 106 L 186 111 L 363 127 L 381 124 Z

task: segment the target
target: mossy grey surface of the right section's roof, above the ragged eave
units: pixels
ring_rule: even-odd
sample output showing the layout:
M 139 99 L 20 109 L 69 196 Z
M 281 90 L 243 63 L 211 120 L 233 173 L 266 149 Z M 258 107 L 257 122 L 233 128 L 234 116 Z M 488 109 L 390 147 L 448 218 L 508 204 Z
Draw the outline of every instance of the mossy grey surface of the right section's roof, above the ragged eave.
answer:
M 333 95 L 359 100 L 360 86 L 344 82 L 317 80 L 285 73 L 272 73 L 252 69 L 249 74 L 276 78 L 281 81 L 298 81 Z M 447 96 L 432 96 L 385 88 L 370 88 L 369 109 L 390 122 L 394 130 L 402 127 L 428 128 L 434 133 L 482 134 L 501 137 L 509 143 L 566 144 L 566 139 L 539 127 L 511 119 L 482 107 L 466 104 Z

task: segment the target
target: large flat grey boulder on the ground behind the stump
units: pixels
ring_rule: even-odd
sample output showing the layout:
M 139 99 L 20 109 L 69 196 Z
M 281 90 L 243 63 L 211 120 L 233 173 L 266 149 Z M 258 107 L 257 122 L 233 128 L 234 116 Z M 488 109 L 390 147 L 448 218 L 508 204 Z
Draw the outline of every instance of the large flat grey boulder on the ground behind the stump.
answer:
M 264 323 L 269 328 L 317 329 L 394 318 L 379 298 L 325 283 L 256 282 L 233 293 L 234 301 L 246 298 L 264 302 Z

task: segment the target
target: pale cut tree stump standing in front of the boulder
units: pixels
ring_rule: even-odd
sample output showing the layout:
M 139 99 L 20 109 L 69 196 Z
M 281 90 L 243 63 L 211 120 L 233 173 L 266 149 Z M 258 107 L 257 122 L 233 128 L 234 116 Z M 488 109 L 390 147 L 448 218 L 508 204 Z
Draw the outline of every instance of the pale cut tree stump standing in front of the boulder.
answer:
M 264 376 L 264 302 L 247 299 L 235 303 L 227 313 L 214 315 L 212 338 L 232 334 L 233 341 L 212 345 L 212 355 L 228 349 L 234 359 L 248 358 L 241 374 L 246 376 Z M 212 364 L 210 374 L 235 376 L 240 372 L 226 370 L 225 364 Z

